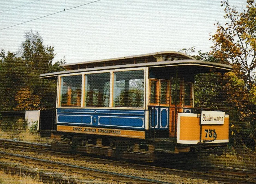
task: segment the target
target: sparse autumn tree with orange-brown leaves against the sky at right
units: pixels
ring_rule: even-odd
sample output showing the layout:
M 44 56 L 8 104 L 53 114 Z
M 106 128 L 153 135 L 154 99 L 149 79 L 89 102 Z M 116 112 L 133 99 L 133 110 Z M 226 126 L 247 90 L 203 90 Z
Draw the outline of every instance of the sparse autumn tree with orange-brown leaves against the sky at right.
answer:
M 247 0 L 246 9 L 239 13 L 222 1 L 227 23 L 216 23 L 217 31 L 212 36 L 212 54 L 221 63 L 233 63 L 234 73 L 246 83 L 250 90 L 255 83 L 256 70 L 256 7 L 254 0 Z

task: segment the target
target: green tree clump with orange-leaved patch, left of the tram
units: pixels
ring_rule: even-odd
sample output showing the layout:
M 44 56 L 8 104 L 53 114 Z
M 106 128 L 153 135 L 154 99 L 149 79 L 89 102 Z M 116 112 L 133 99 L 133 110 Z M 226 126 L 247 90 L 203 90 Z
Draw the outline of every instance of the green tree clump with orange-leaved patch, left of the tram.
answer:
M 42 73 L 62 71 L 63 60 L 53 64 L 54 48 L 44 46 L 38 33 L 26 32 L 17 54 L 1 50 L 0 110 L 43 109 L 56 103 L 56 80 L 40 79 Z

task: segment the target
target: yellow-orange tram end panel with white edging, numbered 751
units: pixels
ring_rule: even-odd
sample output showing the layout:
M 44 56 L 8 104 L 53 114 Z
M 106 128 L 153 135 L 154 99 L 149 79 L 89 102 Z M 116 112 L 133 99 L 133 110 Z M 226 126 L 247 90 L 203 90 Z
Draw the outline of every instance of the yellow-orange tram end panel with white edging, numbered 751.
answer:
M 197 144 L 200 142 L 200 117 L 192 113 L 178 113 L 177 143 Z M 213 140 L 208 143 L 227 143 L 229 129 L 229 115 L 225 115 L 224 124 L 202 124 L 201 141 Z M 215 130 L 216 134 L 214 134 Z

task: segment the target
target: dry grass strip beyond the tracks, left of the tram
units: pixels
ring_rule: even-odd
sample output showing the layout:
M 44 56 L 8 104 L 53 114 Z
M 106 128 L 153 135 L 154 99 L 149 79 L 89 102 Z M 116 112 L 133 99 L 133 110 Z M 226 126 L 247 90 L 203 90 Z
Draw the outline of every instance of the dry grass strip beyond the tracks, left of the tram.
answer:
M 50 144 L 52 142 L 52 139 L 41 138 L 38 132 L 31 133 L 29 130 L 16 134 L 14 132 L 3 132 L 0 129 L 0 138 L 17 139 L 18 141 L 37 142 L 42 144 Z

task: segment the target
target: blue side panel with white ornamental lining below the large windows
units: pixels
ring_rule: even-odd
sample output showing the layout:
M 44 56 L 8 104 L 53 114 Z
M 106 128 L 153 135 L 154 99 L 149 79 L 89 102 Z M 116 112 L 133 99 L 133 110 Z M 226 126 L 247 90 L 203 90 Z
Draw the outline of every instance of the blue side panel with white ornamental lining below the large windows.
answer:
M 145 110 L 58 108 L 57 124 L 145 129 Z

